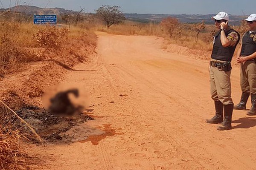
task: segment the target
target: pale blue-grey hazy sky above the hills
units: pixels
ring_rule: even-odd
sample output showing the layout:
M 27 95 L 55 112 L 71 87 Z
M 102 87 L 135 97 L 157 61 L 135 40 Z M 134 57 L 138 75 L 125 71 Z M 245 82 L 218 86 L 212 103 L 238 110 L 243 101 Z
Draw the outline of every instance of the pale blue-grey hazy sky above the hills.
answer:
M 217 14 L 225 11 L 232 15 L 256 13 L 256 0 L 0 0 L 1 8 L 31 5 L 41 8 L 65 8 L 86 12 L 102 5 L 120 6 L 123 13 L 138 14 Z

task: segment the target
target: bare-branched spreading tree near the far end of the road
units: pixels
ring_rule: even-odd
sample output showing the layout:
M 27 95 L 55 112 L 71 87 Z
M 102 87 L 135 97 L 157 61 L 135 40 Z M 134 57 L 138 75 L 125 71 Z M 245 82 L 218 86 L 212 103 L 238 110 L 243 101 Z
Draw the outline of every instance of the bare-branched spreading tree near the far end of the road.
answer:
M 113 24 L 117 24 L 125 20 L 125 16 L 122 11 L 119 10 L 119 8 L 120 6 L 101 6 L 95 11 L 109 28 Z

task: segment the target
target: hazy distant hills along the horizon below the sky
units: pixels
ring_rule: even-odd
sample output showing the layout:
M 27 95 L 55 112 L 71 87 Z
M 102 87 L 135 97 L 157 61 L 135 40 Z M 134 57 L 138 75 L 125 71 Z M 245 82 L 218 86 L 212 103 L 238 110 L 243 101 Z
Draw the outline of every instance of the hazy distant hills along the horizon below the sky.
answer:
M 0 11 L 5 9 L 0 9 Z M 64 8 L 39 8 L 36 6 L 14 6 L 10 8 L 11 11 L 24 13 L 24 14 L 74 14 L 78 11 L 73 10 L 66 10 Z M 211 20 L 211 17 L 215 14 L 124 14 L 125 18 L 127 20 L 142 22 L 142 23 L 148 23 L 148 22 L 154 22 L 154 23 L 160 23 L 163 18 L 166 17 L 175 17 L 177 18 L 181 23 L 200 23 L 202 20 L 204 20 L 207 24 L 213 24 L 213 21 Z M 236 16 L 236 15 L 230 15 L 230 25 L 239 25 L 240 21 L 245 19 L 246 16 Z

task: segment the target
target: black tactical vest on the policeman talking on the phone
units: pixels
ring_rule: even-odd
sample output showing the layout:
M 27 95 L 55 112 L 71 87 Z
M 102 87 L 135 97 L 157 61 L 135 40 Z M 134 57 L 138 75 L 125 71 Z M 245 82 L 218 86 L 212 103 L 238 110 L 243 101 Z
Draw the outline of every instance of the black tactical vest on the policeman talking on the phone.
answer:
M 233 31 L 235 30 L 230 29 L 227 32 L 225 31 L 226 36 Z M 236 42 L 236 45 L 237 45 L 240 40 L 240 35 L 237 31 L 235 32 L 238 34 L 238 41 Z M 214 36 L 214 43 L 213 43 L 212 56 L 211 56 L 212 59 L 231 62 L 231 59 L 236 49 L 236 45 L 232 47 L 231 46 L 223 47 L 221 44 L 221 30 L 219 30 Z

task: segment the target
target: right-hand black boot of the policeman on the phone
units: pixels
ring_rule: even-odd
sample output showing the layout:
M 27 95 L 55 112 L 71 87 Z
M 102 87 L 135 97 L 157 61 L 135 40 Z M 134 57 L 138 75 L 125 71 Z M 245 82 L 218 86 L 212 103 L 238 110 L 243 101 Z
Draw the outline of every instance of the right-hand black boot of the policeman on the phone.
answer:
M 234 104 L 224 105 L 224 121 L 221 123 L 221 126 L 217 127 L 217 130 L 230 130 L 232 129 L 231 120 L 233 113 Z

